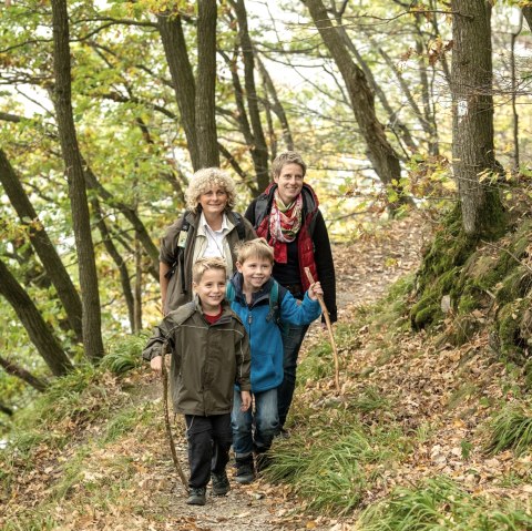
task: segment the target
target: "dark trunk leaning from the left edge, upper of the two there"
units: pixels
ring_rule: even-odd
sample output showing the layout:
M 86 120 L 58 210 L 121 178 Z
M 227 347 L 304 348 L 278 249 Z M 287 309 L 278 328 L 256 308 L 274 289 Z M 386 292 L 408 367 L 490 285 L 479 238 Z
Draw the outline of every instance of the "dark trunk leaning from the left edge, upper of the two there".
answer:
M 30 203 L 28 195 L 17 177 L 13 167 L 8 161 L 6 153 L 0 149 L 0 182 L 8 194 L 9 201 L 17 211 L 21 222 L 24 217 L 35 223 L 29 228 L 30 241 L 42 262 L 52 284 L 55 286 L 61 304 L 66 312 L 70 327 L 75 334 L 78 341 L 82 341 L 82 312 L 81 299 L 70 278 L 66 269 L 50 241 L 45 228 L 38 221 L 38 214 Z

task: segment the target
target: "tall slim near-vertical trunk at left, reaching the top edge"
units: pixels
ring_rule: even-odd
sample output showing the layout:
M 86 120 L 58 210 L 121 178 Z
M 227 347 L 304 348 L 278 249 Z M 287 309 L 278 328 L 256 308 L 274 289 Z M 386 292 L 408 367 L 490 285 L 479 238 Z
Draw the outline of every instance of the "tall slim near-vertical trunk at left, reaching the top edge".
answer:
M 66 0 L 52 0 L 54 105 L 61 150 L 69 182 L 80 287 L 82 295 L 83 345 L 85 356 L 96 361 L 103 357 L 100 294 L 89 205 L 81 154 L 72 113 L 69 16 Z

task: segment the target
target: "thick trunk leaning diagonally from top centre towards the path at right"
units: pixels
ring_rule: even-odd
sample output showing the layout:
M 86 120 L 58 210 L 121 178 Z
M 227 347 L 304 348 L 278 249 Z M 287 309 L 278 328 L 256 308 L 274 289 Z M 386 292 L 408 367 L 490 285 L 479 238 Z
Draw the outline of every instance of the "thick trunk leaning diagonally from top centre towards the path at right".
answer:
M 355 119 L 366 141 L 368 157 L 380 181 L 397 194 L 391 210 L 399 204 L 411 203 L 398 183 L 401 178 L 399 156 L 389 144 L 385 127 L 375 112 L 375 98 L 364 71 L 355 64 L 336 28 L 332 25 L 321 0 L 305 0 L 316 28 L 328 48 L 346 83 Z

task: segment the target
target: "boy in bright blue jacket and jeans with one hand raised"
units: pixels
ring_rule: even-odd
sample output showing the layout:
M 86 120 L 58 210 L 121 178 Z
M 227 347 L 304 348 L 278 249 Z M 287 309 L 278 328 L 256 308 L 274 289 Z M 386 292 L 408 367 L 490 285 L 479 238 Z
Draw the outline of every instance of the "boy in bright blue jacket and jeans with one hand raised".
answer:
M 274 251 L 264 238 L 239 244 L 236 261 L 237 272 L 228 286 L 228 299 L 249 338 L 255 408 L 243 411 L 239 389 L 235 389 L 231 422 L 236 457 L 235 479 L 239 483 L 250 483 L 255 479 L 253 453 L 256 456 L 256 468 L 260 471 L 267 463 L 265 452 L 279 429 L 277 388 L 283 381 L 279 325 L 308 325 L 317 319 L 321 313 L 317 295 L 323 295 L 323 290 L 319 282 L 313 284 L 299 304 L 286 288 L 276 284 L 272 278 Z

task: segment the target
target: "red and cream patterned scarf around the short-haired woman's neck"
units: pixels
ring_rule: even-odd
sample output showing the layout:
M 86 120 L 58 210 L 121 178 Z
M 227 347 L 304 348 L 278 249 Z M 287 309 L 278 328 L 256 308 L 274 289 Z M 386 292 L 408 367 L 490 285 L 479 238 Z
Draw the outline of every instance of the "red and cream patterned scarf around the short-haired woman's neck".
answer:
M 274 259 L 278 264 L 288 262 L 287 243 L 296 239 L 301 228 L 303 196 L 299 194 L 288 206 L 276 190 L 269 214 L 269 244 L 274 247 Z

